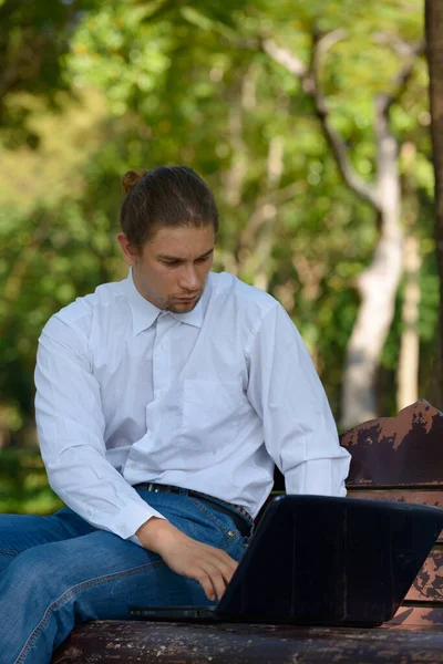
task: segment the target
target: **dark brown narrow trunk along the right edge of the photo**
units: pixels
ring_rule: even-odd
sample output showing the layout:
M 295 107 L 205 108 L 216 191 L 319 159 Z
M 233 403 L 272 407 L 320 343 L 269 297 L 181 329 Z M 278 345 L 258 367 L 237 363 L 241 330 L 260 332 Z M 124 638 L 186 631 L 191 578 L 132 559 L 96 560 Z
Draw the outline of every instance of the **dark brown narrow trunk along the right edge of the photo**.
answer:
M 433 403 L 443 407 L 443 0 L 425 2 L 426 49 L 430 73 L 431 136 L 435 173 L 435 241 L 440 276 L 440 310 L 434 374 Z

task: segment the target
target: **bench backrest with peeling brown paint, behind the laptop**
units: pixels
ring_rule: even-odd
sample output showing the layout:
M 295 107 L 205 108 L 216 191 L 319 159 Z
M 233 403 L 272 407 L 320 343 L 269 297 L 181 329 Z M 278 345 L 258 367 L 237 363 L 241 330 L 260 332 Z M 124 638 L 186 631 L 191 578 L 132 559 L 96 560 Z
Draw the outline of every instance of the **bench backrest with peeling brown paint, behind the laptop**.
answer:
M 443 414 L 427 402 L 362 424 L 341 444 L 352 455 L 349 496 L 443 508 Z M 389 626 L 434 623 L 443 631 L 442 535 Z

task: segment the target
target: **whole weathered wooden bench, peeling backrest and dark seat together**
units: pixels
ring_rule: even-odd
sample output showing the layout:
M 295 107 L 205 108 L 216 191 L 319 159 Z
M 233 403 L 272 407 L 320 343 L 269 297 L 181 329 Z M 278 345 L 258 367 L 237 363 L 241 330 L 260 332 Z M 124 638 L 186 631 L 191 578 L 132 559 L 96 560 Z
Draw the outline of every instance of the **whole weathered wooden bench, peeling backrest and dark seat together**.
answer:
M 427 402 L 361 424 L 341 443 L 352 455 L 350 496 L 443 507 L 443 414 Z M 443 538 L 393 620 L 378 629 L 96 621 L 75 629 L 53 657 L 115 662 L 443 662 Z

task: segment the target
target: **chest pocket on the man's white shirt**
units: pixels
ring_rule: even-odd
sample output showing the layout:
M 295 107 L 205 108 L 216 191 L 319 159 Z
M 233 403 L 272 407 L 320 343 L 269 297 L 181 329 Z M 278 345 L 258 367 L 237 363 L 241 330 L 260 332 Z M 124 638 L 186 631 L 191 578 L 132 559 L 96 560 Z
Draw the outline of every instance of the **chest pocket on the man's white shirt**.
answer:
M 182 421 L 186 446 L 207 449 L 231 444 L 238 433 L 244 398 L 241 381 L 186 380 Z

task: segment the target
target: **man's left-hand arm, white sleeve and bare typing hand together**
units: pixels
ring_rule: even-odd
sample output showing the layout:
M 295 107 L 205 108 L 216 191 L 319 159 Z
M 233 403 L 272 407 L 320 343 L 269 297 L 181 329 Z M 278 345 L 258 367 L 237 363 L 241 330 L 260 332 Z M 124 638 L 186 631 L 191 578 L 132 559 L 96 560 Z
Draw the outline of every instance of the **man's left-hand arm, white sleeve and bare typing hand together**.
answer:
M 158 553 L 173 571 L 198 581 L 209 600 L 220 598 L 237 562 L 181 532 L 109 463 L 87 340 L 56 317 L 40 338 L 35 385 L 41 454 L 60 498 L 96 528 Z

